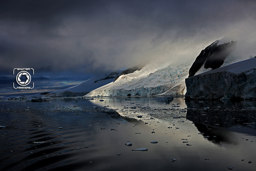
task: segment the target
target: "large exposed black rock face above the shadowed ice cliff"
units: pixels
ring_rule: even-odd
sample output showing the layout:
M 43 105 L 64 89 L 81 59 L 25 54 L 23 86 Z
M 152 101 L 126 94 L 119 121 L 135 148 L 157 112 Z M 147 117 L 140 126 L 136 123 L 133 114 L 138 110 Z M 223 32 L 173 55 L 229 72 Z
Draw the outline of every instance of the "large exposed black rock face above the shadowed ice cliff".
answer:
M 192 77 L 203 66 L 204 68 L 217 69 L 224 63 L 225 58 L 235 49 L 236 42 L 231 41 L 224 44 L 218 44 L 219 40 L 207 46 L 197 56 L 195 62 L 189 69 L 189 76 Z

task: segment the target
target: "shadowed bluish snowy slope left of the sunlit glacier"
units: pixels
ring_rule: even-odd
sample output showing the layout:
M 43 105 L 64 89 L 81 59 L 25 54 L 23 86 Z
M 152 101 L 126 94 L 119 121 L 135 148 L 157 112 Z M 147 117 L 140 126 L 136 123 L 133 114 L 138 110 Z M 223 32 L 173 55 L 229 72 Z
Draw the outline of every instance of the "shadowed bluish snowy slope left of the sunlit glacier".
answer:
M 55 91 L 49 94 L 45 94 L 44 97 L 72 97 L 72 96 L 83 96 L 95 88 L 106 85 L 113 82 L 117 76 L 120 75 L 122 70 L 110 72 L 105 75 L 94 76 L 81 84 L 74 87 L 65 88 L 63 90 Z

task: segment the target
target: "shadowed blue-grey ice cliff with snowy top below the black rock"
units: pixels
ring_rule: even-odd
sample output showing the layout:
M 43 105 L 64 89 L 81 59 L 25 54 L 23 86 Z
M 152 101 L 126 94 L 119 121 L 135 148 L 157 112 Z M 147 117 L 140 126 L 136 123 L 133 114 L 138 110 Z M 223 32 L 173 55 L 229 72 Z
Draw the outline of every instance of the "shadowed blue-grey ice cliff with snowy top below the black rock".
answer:
M 256 58 L 186 79 L 186 99 L 255 99 Z

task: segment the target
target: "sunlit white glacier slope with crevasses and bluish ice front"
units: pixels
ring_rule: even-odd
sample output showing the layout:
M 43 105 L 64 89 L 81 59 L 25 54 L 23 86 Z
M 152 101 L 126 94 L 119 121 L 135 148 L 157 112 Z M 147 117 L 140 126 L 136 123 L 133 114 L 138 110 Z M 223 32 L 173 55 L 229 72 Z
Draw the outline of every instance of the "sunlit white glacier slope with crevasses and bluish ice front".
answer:
M 152 64 L 119 76 L 113 83 L 99 87 L 85 96 L 146 96 L 185 94 L 185 78 L 190 64 L 169 65 L 157 69 Z

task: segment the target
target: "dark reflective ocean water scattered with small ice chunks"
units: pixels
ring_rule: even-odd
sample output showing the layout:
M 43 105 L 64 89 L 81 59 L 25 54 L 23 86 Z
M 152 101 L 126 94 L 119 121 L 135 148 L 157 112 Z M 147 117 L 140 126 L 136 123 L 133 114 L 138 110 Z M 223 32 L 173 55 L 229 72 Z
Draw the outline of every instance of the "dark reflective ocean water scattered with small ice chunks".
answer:
M 0 170 L 256 169 L 255 101 L 103 100 L 0 101 Z

